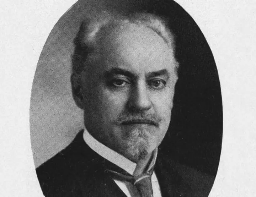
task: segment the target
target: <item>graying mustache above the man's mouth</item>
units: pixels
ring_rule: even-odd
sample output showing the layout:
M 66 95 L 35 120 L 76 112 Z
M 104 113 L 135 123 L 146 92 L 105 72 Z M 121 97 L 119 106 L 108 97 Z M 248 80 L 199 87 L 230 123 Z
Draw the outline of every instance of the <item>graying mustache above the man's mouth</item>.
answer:
M 129 124 L 150 124 L 159 126 L 162 119 L 157 114 L 151 113 L 123 113 L 120 114 L 116 120 L 118 125 Z

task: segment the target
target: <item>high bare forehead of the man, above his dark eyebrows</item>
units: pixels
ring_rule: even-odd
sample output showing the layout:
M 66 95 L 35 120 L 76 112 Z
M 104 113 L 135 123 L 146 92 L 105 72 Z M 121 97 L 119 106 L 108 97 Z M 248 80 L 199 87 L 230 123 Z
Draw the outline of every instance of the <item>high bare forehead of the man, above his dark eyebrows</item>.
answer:
M 173 72 L 174 50 L 152 29 L 127 24 L 102 32 L 98 41 L 99 71 L 112 67 L 136 73 Z

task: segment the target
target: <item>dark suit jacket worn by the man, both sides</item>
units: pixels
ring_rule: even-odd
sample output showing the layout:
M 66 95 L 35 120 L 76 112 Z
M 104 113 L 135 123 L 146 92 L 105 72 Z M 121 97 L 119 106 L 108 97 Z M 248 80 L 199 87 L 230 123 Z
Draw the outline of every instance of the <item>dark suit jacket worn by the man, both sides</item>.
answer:
M 46 197 L 126 197 L 102 167 L 104 159 L 84 142 L 73 142 L 36 169 Z M 155 173 L 162 197 L 208 196 L 214 177 L 172 161 L 158 151 Z

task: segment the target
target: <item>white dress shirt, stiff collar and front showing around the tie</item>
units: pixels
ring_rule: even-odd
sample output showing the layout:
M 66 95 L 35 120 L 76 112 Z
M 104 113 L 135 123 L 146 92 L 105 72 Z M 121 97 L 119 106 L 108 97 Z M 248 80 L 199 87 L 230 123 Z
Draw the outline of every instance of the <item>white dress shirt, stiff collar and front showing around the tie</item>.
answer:
M 113 151 L 112 149 L 106 147 L 104 144 L 97 141 L 91 134 L 84 129 L 83 138 L 85 143 L 96 153 L 101 155 L 101 157 L 107 159 L 108 161 L 116 164 L 123 170 L 127 171 L 130 175 L 133 175 L 134 170 L 136 168 L 136 163 L 130 161 L 123 155 Z M 151 165 L 154 165 L 157 156 L 157 151 L 154 154 L 153 162 Z M 114 182 L 120 187 L 120 189 L 126 194 L 127 197 L 134 197 L 138 196 L 138 192 L 135 189 L 135 186 L 127 181 L 120 181 L 113 179 Z M 152 175 L 152 188 L 153 188 L 153 195 L 154 197 L 161 197 L 160 186 L 158 180 L 156 178 L 155 172 Z

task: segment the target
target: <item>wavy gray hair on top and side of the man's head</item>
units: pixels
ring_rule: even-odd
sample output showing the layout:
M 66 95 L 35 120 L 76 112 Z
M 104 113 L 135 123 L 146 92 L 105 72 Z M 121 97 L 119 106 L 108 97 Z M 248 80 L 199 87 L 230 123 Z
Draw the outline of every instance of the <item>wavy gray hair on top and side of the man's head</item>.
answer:
M 73 73 L 79 75 L 85 67 L 85 61 L 90 53 L 97 49 L 97 36 L 107 28 L 121 27 L 126 24 L 147 27 L 156 32 L 166 44 L 175 51 L 175 35 L 168 28 L 164 18 L 152 13 L 133 13 L 131 15 L 119 15 L 103 12 L 100 18 L 87 18 L 82 21 L 80 30 L 74 39 L 75 51 L 72 57 Z M 177 70 L 178 62 L 174 62 Z

